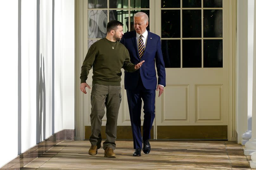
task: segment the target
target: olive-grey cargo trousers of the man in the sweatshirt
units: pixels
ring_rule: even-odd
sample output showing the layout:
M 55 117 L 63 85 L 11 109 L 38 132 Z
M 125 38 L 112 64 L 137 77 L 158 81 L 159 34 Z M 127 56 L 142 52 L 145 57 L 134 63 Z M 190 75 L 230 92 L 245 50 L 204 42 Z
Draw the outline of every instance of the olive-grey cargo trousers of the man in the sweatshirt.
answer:
M 92 145 L 101 146 L 101 125 L 106 107 L 106 141 L 103 149 L 116 148 L 117 119 L 121 103 L 121 86 L 93 84 L 91 92 L 91 128 L 90 142 Z

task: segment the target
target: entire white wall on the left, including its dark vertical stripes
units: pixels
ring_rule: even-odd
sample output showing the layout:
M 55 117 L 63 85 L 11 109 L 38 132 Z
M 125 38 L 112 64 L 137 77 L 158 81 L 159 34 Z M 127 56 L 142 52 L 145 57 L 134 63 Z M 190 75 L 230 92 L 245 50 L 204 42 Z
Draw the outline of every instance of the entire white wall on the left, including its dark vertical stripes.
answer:
M 54 132 L 74 129 L 74 0 L 55 0 L 55 15 L 52 0 L 39 2 L 37 17 L 36 0 L 0 1 L 0 167 Z

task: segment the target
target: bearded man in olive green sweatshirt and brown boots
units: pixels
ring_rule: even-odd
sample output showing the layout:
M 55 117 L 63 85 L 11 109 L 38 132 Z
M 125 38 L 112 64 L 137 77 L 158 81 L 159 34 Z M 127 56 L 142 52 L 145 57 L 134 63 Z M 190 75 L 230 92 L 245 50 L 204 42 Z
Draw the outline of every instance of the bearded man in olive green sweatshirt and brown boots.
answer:
M 116 147 L 116 131 L 118 111 L 121 103 L 121 68 L 134 72 L 142 66 L 142 62 L 134 65 L 130 62 L 128 50 L 119 41 L 123 32 L 123 24 L 110 21 L 107 24 L 107 36 L 93 43 L 89 48 L 81 68 L 80 90 L 86 92 L 89 70 L 93 67 L 93 87 L 91 92 L 91 148 L 89 155 L 96 155 L 101 147 L 101 124 L 106 106 L 106 141 L 103 143 L 104 157 L 116 157 L 113 150 Z

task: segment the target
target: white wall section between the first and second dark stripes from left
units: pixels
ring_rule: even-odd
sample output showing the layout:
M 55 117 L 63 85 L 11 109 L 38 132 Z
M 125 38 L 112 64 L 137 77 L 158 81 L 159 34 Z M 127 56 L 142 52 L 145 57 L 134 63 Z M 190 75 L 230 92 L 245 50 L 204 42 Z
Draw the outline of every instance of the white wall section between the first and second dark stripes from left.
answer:
M 21 9 L 21 152 L 24 152 L 36 143 L 36 1 L 22 0 Z

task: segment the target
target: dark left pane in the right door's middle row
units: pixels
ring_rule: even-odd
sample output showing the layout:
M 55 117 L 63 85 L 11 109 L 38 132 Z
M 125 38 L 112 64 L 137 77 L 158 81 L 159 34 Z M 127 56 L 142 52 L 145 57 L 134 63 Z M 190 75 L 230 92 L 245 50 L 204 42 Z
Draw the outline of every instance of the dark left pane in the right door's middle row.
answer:
M 162 38 L 180 38 L 181 20 L 180 10 L 162 10 Z

